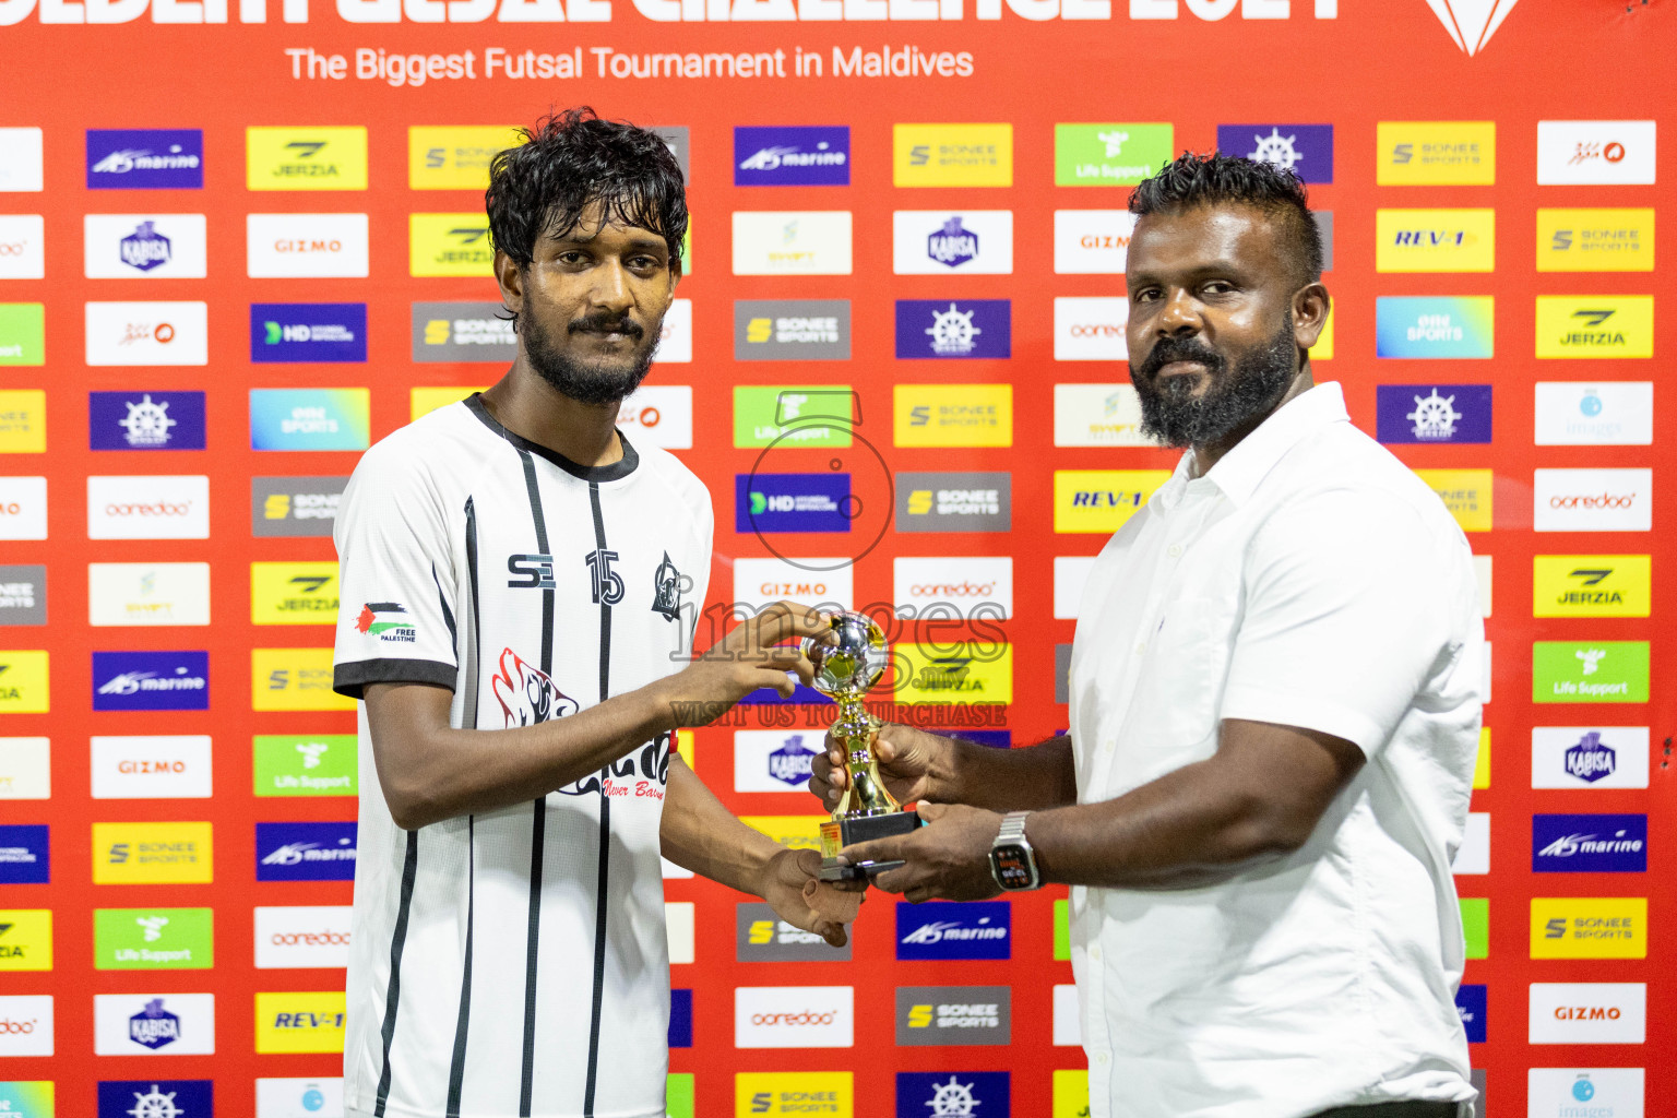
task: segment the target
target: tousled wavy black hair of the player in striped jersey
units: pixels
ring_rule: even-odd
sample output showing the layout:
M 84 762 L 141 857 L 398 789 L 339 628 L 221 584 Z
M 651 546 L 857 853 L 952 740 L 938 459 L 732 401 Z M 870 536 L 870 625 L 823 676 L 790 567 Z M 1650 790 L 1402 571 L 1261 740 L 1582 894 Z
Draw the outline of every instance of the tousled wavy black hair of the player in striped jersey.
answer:
M 522 144 L 490 161 L 483 193 L 498 250 L 528 265 L 543 235 L 574 230 L 582 211 L 599 203 L 607 220 L 662 236 L 669 267 L 681 275 L 688 193 L 681 164 L 657 132 L 602 121 L 584 106 L 545 116 L 518 134 Z

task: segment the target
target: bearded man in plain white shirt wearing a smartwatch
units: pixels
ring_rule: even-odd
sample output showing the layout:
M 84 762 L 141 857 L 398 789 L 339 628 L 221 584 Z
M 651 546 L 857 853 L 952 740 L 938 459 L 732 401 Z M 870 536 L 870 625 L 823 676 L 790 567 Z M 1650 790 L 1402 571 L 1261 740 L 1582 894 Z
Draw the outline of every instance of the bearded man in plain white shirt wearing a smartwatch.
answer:
M 1090 572 L 1070 734 L 887 727 L 927 825 L 847 857 L 906 860 L 875 885 L 914 902 L 1072 885 L 1095 1118 L 1467 1115 L 1467 541 L 1313 384 L 1328 293 L 1291 173 L 1182 156 L 1130 210 L 1130 377 L 1187 453 Z

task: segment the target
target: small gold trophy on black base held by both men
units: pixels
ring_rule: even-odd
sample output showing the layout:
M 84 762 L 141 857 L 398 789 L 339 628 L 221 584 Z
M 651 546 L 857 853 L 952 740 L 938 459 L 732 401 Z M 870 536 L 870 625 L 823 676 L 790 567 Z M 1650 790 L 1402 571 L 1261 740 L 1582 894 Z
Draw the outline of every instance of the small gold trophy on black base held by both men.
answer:
M 874 746 L 884 726 L 867 712 L 862 699 L 890 662 L 890 645 L 874 619 L 862 613 L 833 613 L 827 637 L 807 637 L 803 655 L 815 665 L 815 689 L 838 702 L 838 721 L 832 738 L 844 749 L 850 784 L 845 788 L 833 818 L 822 823 L 822 878 L 857 880 L 902 865 L 901 862 L 864 862 L 838 865 L 838 851 L 850 843 L 889 835 L 907 835 L 921 825 L 914 811 L 885 791 L 879 776 Z

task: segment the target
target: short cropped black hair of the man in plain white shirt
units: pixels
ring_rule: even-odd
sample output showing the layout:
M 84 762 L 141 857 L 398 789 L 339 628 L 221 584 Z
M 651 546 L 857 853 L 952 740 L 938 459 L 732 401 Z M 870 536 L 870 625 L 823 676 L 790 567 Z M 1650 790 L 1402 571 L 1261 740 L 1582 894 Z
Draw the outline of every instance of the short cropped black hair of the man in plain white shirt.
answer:
M 1251 206 L 1276 221 L 1295 246 L 1300 287 L 1321 282 L 1321 231 L 1310 216 L 1305 183 L 1288 168 L 1241 156 L 1184 151 L 1130 194 L 1130 213 L 1181 213 L 1201 206 Z

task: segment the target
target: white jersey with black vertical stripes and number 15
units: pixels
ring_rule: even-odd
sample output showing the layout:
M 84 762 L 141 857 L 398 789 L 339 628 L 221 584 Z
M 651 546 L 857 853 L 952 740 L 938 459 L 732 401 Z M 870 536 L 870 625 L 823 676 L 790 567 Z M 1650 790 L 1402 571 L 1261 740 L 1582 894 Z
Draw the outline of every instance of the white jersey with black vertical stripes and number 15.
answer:
M 337 518 L 334 686 L 454 692 L 485 731 L 683 667 L 711 498 L 661 449 L 585 468 L 473 396 L 382 439 Z M 344 1103 L 394 1118 L 664 1113 L 669 736 L 518 806 L 396 826 L 361 729 Z

